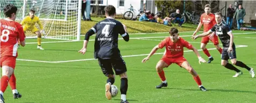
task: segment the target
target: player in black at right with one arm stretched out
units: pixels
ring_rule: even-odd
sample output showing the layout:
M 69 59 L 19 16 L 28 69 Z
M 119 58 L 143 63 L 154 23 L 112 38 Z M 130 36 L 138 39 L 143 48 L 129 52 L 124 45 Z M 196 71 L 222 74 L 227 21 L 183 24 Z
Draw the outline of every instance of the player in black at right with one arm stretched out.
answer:
M 214 31 L 216 31 L 216 34 L 218 35 L 219 39 L 221 39 L 221 42 L 223 44 L 222 66 L 226 67 L 227 69 L 236 71 L 237 73 L 233 77 L 238 77 L 243 74 L 243 72 L 241 72 L 241 70 L 237 69 L 233 65 L 236 65 L 236 66 L 239 66 L 242 68 L 246 68 L 250 72 L 252 77 L 254 77 L 255 73 L 254 73 L 253 68 L 248 67 L 241 61 L 237 61 L 236 46 L 233 43 L 234 36 L 233 36 L 232 31 L 229 28 L 229 26 L 227 26 L 226 23 L 222 22 L 221 13 L 215 13 L 215 20 L 217 22 L 217 25 L 212 27 L 209 31 L 207 31 L 203 34 L 197 35 L 197 36 L 193 36 L 191 38 L 196 39 L 198 37 L 204 37 Z M 230 59 L 230 61 L 233 65 L 229 64 L 229 62 L 227 61 L 228 59 Z

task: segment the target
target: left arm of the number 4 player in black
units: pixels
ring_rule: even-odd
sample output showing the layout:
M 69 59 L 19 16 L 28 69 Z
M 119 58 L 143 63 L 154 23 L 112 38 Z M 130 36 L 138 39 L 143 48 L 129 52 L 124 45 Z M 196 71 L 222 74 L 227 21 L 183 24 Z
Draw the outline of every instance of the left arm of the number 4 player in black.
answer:
M 84 37 L 83 47 L 78 52 L 80 52 L 82 54 L 86 53 L 87 45 L 88 45 L 88 42 L 89 42 L 89 38 L 90 38 L 91 35 L 93 35 L 95 33 L 96 33 L 96 30 L 95 30 L 94 27 L 87 31 L 86 36 Z

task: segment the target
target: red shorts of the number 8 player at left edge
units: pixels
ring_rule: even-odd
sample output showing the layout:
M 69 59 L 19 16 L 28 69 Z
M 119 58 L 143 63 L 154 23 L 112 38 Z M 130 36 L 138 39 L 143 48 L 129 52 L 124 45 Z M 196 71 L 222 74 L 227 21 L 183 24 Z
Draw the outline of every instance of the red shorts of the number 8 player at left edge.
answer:
M 16 66 L 16 57 L 13 56 L 4 56 L 1 57 L 1 67 L 2 66 L 9 66 L 15 69 Z

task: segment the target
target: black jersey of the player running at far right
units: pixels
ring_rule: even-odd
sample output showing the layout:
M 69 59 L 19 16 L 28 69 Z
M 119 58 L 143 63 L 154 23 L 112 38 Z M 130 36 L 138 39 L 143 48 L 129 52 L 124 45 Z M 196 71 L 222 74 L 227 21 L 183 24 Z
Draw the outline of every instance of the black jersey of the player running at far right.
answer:
M 219 39 L 221 39 L 222 45 L 224 49 L 229 48 L 230 45 L 230 36 L 229 34 L 232 33 L 229 26 L 227 26 L 225 23 L 221 23 L 220 25 L 215 25 L 211 28 L 211 31 L 216 31 L 216 34 L 218 35 Z M 235 46 L 234 43 L 232 45 Z

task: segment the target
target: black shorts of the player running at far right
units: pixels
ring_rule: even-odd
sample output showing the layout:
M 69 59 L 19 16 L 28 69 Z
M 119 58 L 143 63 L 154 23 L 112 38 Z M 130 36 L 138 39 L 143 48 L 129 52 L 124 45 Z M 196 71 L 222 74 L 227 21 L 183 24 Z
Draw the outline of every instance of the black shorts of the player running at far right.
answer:
M 229 60 L 237 58 L 236 47 L 233 47 L 233 51 L 227 52 L 227 49 L 222 50 L 222 60 Z

